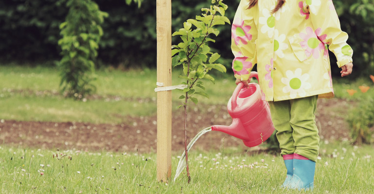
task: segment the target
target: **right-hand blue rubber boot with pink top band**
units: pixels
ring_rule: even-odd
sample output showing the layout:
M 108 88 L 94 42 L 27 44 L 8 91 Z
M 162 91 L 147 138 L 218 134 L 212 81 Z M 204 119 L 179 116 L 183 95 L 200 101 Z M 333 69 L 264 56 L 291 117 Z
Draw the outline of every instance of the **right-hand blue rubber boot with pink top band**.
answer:
M 300 156 L 299 154 L 297 155 Z M 294 176 L 292 178 L 290 188 L 312 191 L 314 187 L 314 173 L 316 171 L 316 162 L 308 160 L 303 156 L 300 157 L 303 159 L 296 159 L 298 157 L 294 155 Z

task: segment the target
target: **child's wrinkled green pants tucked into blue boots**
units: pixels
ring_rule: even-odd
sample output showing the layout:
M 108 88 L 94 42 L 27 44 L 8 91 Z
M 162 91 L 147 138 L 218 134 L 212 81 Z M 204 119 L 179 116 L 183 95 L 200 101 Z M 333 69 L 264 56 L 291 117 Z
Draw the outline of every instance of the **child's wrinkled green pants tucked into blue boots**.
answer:
M 315 121 L 318 96 L 269 101 L 281 155 L 297 153 L 316 162 L 319 149 Z

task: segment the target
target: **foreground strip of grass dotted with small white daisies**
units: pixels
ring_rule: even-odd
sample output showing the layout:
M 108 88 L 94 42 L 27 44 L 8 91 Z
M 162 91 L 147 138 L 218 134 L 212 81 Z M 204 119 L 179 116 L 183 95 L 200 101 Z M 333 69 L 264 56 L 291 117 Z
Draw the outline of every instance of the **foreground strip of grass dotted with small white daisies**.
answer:
M 60 160 L 53 157 L 56 153 Z M 61 154 L 67 156 L 62 158 Z M 175 174 L 179 161 L 176 156 L 179 154 L 174 153 L 172 157 L 171 178 Z M 372 146 L 353 147 L 347 142 L 322 143 L 320 156 L 313 193 L 374 192 Z M 156 181 L 154 153 L 57 152 L 2 146 L 0 193 L 303 193 L 279 187 L 285 178 L 280 156 L 266 153 L 249 155 L 228 148 L 210 152 L 192 149 L 189 160 L 191 183 L 187 184 L 186 175 L 181 174 L 175 182 L 166 184 Z M 250 168 L 251 165 L 253 168 Z

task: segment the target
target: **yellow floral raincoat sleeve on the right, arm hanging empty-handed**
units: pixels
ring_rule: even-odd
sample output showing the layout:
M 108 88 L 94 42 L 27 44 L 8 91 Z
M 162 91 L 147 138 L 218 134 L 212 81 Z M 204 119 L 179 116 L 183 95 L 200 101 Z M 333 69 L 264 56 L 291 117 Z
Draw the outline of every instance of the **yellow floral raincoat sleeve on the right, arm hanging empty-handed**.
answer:
M 318 38 L 337 57 L 337 65 L 341 67 L 352 62 L 353 50 L 347 44 L 348 34 L 341 31 L 340 22 L 332 0 L 303 0 L 308 9 L 312 24 L 319 34 Z

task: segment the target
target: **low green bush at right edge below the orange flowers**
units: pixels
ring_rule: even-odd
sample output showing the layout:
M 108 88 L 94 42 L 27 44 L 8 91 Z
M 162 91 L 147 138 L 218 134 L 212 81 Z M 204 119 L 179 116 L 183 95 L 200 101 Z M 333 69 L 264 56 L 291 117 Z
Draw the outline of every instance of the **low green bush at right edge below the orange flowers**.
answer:
M 348 115 L 347 122 L 351 129 L 351 138 L 355 144 L 370 144 L 374 131 L 374 98 L 361 99 Z

